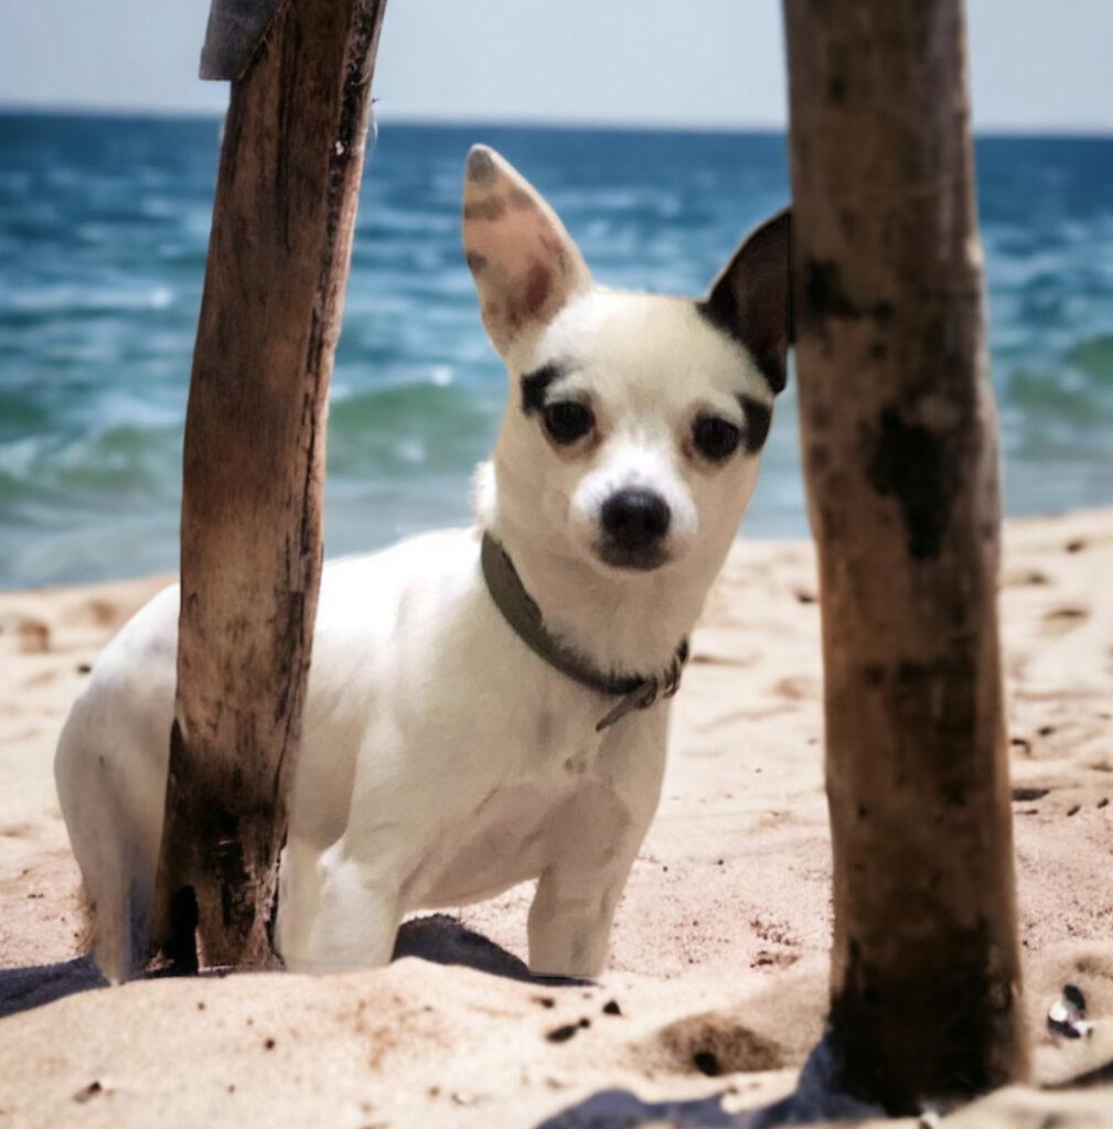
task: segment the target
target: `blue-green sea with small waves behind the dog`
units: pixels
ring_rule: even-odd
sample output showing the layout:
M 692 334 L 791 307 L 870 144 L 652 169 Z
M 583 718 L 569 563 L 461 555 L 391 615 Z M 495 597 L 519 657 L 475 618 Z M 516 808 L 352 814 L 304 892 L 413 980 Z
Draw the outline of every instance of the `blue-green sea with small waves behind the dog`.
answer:
M 0 587 L 173 569 L 220 123 L 0 115 Z M 501 149 L 597 278 L 698 294 L 789 198 L 783 137 L 388 125 L 367 164 L 332 382 L 327 551 L 467 520 L 505 371 L 459 237 Z M 1113 502 L 1113 139 L 977 142 L 1010 514 Z M 794 392 L 750 536 L 807 533 Z

